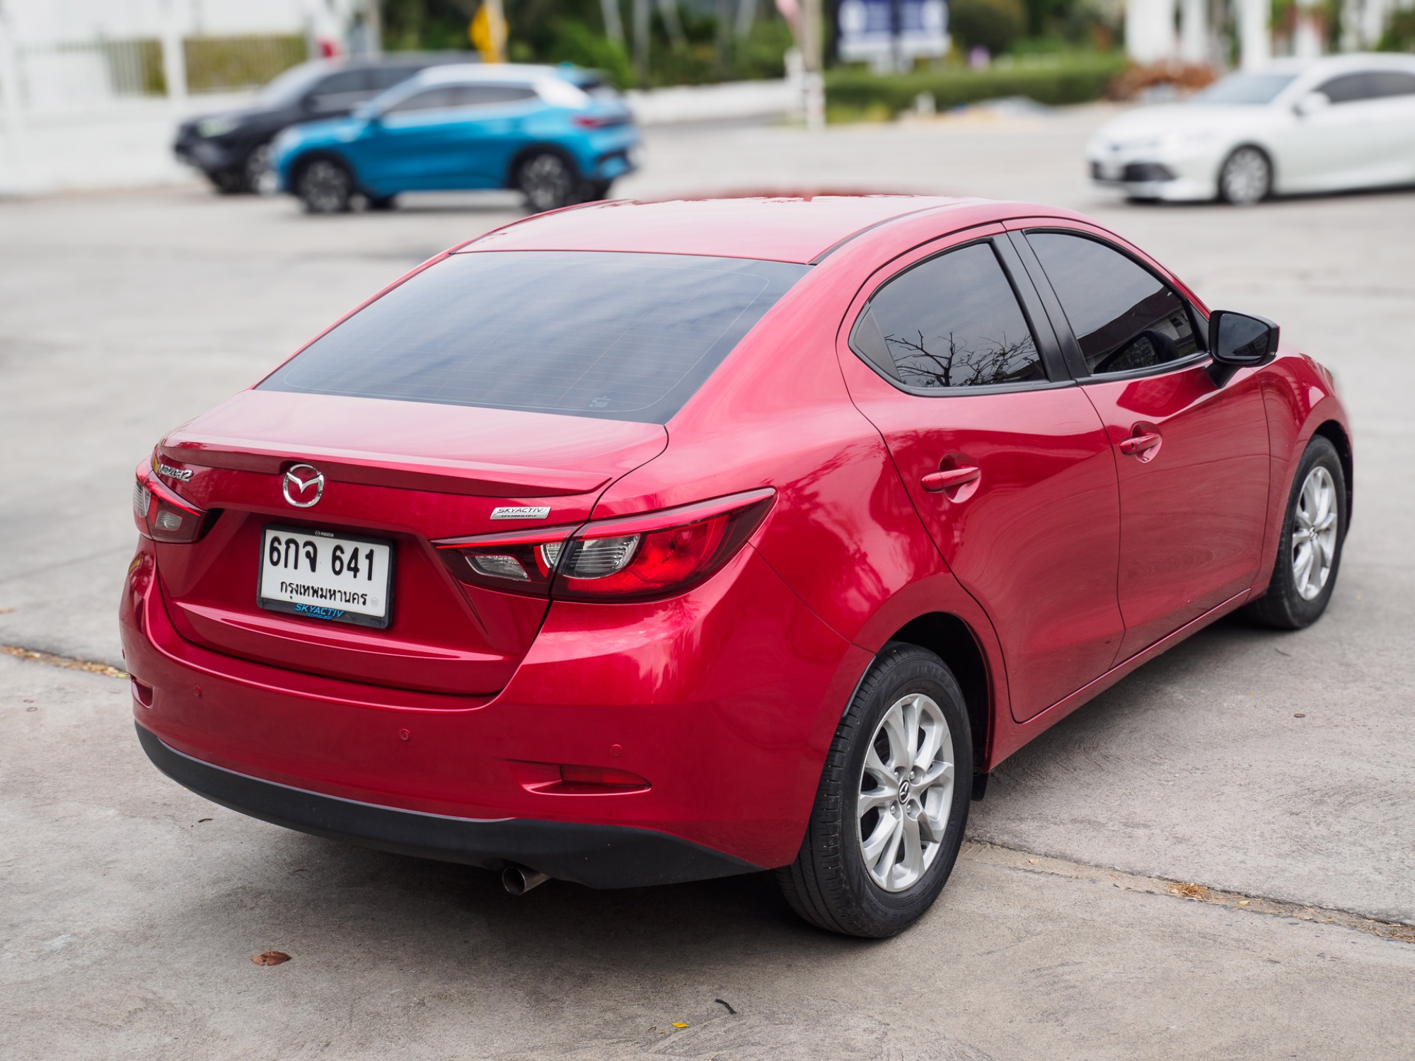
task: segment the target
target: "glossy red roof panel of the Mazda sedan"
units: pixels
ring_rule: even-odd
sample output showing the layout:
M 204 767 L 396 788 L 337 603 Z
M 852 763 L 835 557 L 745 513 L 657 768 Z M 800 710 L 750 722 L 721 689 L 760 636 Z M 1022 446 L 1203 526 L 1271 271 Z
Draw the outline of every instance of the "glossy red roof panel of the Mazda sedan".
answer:
M 1049 207 L 941 195 L 616 199 L 525 218 L 458 250 L 628 250 L 805 265 L 866 229 L 924 211 L 952 214 L 949 231 L 1002 218 L 1073 216 Z

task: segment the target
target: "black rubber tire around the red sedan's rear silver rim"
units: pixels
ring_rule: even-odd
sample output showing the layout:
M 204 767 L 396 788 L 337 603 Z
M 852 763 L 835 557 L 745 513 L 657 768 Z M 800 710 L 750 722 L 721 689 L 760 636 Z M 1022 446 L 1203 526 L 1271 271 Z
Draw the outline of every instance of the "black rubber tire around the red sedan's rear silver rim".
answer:
M 872 747 L 879 754 L 882 720 L 903 697 L 913 693 L 930 697 L 948 724 L 954 777 L 951 789 L 941 789 L 938 798 L 938 818 L 945 826 L 935 852 L 925 856 L 932 860 L 925 862 L 923 874 L 908 887 L 887 890 L 866 866 L 860 842 L 862 821 L 869 822 L 877 815 L 869 826 L 874 833 L 886 821 L 886 811 L 866 811 L 862 818 L 859 801 L 862 795 L 869 795 L 862 794 L 866 755 Z M 879 785 L 874 791 L 887 789 Z M 903 802 L 907 791 L 907 785 L 901 782 L 900 802 L 887 808 L 896 819 L 910 813 L 908 804 Z M 932 905 L 958 860 L 971 795 L 972 734 L 957 679 L 944 661 L 928 649 L 906 644 L 886 645 L 860 682 L 831 743 L 801 852 L 794 863 L 777 870 L 777 883 L 787 903 L 802 918 L 831 932 L 872 939 L 903 932 Z M 920 816 L 914 816 L 914 821 L 920 821 Z M 883 860 L 893 860 L 896 853 L 896 847 L 887 847 Z

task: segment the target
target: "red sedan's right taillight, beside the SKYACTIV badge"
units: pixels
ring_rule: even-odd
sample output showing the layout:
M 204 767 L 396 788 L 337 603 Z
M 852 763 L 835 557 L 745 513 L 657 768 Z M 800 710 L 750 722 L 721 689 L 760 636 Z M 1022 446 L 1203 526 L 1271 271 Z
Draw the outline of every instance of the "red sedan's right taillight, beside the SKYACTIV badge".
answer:
M 466 583 L 555 600 L 645 600 L 696 586 L 760 526 L 775 491 L 753 489 L 693 505 L 437 542 Z

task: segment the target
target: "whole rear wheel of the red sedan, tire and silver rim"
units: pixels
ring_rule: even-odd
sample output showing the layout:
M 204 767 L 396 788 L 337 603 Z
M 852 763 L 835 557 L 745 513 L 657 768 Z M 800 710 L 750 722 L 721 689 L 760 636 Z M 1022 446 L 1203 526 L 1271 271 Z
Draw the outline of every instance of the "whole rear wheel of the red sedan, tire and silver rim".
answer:
M 797 860 L 777 870 L 811 924 L 884 938 L 942 890 L 968 823 L 972 734 L 962 692 L 932 652 L 893 644 L 841 720 Z

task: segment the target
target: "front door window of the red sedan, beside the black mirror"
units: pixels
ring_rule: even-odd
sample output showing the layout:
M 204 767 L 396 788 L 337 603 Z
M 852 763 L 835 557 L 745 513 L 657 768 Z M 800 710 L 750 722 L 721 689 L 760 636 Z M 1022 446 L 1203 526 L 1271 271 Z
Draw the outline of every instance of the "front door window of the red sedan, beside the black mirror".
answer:
M 1162 368 L 1199 351 L 1189 307 L 1119 250 L 1085 236 L 1029 232 L 1092 375 Z

